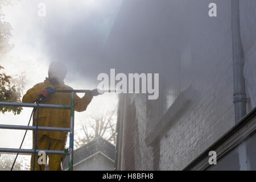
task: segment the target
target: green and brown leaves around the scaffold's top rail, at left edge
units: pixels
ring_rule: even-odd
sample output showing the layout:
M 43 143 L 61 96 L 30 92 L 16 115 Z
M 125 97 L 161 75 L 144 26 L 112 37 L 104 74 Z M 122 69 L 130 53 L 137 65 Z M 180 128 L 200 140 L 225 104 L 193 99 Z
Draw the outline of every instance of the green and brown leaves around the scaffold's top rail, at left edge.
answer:
M 24 88 L 25 78 L 20 76 L 18 80 L 14 80 L 14 83 L 19 82 L 18 86 L 11 84 L 11 76 L 6 75 L 6 73 L 1 72 L 4 69 L 0 65 L 0 101 L 4 102 L 21 102 L 20 98 L 23 94 L 22 90 Z M 20 81 L 21 80 L 21 81 Z M 11 106 L 0 106 L 0 112 L 5 113 L 6 111 L 20 114 L 22 107 L 11 107 Z

